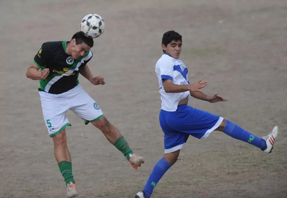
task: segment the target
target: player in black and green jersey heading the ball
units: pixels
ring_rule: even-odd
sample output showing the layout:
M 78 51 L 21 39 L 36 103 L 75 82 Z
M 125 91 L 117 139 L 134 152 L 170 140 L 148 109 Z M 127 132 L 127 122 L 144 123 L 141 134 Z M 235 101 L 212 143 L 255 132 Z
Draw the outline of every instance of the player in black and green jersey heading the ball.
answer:
M 93 39 L 82 32 L 75 33 L 71 41 L 43 43 L 26 72 L 28 78 L 40 81 L 38 90 L 44 121 L 53 138 L 55 158 L 66 182 L 67 197 L 78 196 L 65 132 L 65 128 L 71 126 L 66 117 L 69 109 L 85 120 L 85 124 L 91 122 L 100 129 L 133 168 L 144 163 L 144 158 L 130 149 L 120 131 L 109 123 L 99 105 L 79 84 L 79 74 L 93 85 L 105 84 L 103 77 L 93 77 L 88 68 L 87 63 L 93 56 L 91 47 Z

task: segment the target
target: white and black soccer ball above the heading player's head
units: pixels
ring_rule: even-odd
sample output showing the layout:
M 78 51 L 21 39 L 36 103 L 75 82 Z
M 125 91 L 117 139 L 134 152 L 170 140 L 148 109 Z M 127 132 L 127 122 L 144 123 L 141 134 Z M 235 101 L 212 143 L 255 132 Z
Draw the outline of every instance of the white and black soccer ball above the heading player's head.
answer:
M 88 14 L 81 22 L 81 31 L 88 38 L 97 38 L 104 33 L 105 22 L 99 14 Z

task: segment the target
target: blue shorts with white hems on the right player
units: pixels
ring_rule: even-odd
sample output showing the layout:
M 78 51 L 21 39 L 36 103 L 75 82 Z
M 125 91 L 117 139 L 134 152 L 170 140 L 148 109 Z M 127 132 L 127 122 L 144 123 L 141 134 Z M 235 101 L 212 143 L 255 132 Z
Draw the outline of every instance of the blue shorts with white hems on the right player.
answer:
M 176 111 L 161 110 L 159 124 L 165 133 L 165 153 L 181 149 L 189 135 L 205 139 L 217 129 L 223 118 L 206 111 L 179 105 Z

